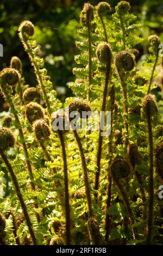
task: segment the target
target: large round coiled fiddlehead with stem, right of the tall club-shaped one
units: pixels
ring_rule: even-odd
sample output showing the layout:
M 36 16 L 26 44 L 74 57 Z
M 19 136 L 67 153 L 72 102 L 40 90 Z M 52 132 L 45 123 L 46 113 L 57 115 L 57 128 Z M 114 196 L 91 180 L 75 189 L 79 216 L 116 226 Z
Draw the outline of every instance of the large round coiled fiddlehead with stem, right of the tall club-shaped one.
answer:
M 134 68 L 134 59 L 133 56 L 127 51 L 118 52 L 115 57 L 115 65 L 116 70 L 118 72 L 118 76 L 120 77 L 121 86 L 122 86 L 122 93 L 124 97 L 124 127 L 127 131 L 127 139 L 126 144 L 128 144 L 129 140 L 129 119 L 128 119 L 128 98 L 127 98 L 127 84 L 124 76 L 124 71 L 131 71 Z

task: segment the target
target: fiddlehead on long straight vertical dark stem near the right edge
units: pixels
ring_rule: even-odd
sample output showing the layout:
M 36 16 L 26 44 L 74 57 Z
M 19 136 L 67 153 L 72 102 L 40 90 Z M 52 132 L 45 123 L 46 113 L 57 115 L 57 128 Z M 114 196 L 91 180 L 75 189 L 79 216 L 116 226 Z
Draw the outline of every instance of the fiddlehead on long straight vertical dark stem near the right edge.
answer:
M 152 117 L 158 113 L 155 97 L 148 94 L 143 99 L 143 111 L 148 123 L 148 141 L 149 141 L 149 204 L 148 204 L 148 234 L 147 244 L 152 244 L 153 231 L 153 208 L 154 208 L 154 181 L 153 181 L 153 132 L 152 132 Z

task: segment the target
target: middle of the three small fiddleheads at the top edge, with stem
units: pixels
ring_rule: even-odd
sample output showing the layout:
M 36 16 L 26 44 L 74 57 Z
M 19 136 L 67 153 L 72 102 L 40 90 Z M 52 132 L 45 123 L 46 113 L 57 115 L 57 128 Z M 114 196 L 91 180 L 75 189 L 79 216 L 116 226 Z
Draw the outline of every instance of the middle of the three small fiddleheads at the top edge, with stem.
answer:
M 109 11 L 111 11 L 111 7 L 110 7 L 109 3 L 107 3 L 107 2 L 98 3 L 98 5 L 97 5 L 97 14 L 98 14 L 98 16 L 99 16 L 99 18 L 101 19 L 101 22 L 102 22 L 106 42 L 108 42 L 108 36 L 107 36 L 107 33 L 106 33 L 106 28 L 105 28 L 105 23 L 104 23 L 104 20 L 103 20 L 103 16 L 107 15 L 109 13 Z

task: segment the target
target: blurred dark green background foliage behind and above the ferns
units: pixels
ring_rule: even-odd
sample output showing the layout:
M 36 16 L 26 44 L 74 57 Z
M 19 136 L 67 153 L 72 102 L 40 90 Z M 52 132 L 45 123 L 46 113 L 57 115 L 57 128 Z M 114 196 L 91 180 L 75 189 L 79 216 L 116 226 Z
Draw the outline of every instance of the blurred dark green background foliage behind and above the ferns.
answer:
M 93 5 L 101 1 L 90 0 Z M 112 9 L 120 1 L 108 1 Z M 163 2 L 129 1 L 131 11 L 139 17 L 143 25 L 143 36 L 163 32 Z M 85 1 L 82 0 L 1 0 L 0 3 L 0 43 L 4 47 L 0 57 L 1 70 L 9 66 L 10 58 L 18 56 L 23 64 L 23 76 L 30 86 L 36 85 L 35 75 L 28 56 L 18 39 L 17 26 L 23 20 L 30 20 L 35 25 L 35 39 L 41 46 L 40 55 L 45 59 L 48 75 L 51 76 L 58 97 L 64 101 L 71 96 L 67 83 L 74 80 L 72 68 L 74 54 L 77 53 L 75 41 L 80 27 L 79 14 Z M 4 107 L 0 102 L 0 109 Z

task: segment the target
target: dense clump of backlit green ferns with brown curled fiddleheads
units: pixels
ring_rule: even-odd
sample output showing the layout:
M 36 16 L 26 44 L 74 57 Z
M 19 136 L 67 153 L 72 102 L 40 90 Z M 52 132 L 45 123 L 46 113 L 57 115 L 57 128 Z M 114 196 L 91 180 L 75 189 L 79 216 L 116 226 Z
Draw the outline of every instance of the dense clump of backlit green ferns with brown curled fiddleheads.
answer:
M 25 84 L 16 56 L 0 72 L 10 106 L 0 128 L 0 245 L 162 244 L 163 103 L 153 93 L 160 39 L 149 36 L 137 62 L 143 36 L 126 1 L 115 10 L 85 3 L 80 25 L 74 96 L 64 105 L 32 22 L 18 36 L 37 86 Z M 93 129 L 101 111 L 110 113 L 105 136 L 104 124 Z

